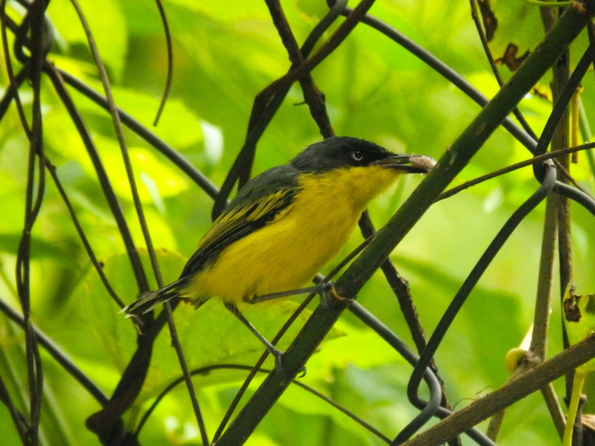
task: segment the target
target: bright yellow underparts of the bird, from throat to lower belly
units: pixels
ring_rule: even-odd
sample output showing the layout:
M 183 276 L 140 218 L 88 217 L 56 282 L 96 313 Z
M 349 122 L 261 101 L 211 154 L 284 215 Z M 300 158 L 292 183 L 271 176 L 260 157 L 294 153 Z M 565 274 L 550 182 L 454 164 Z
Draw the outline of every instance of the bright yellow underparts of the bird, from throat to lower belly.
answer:
M 221 251 L 181 296 L 240 303 L 303 287 L 345 246 L 368 202 L 398 176 L 381 167 L 303 174 L 293 203 Z

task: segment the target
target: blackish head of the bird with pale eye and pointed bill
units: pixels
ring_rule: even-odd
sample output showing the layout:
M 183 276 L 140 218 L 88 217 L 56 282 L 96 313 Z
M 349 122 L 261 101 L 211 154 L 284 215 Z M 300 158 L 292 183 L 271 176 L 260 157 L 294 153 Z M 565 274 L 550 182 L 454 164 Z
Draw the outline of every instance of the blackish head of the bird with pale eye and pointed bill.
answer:
M 291 165 L 302 172 L 325 172 L 347 167 L 384 165 L 408 172 L 427 172 L 408 164 L 416 155 L 395 155 L 382 146 L 364 139 L 334 136 L 306 147 Z

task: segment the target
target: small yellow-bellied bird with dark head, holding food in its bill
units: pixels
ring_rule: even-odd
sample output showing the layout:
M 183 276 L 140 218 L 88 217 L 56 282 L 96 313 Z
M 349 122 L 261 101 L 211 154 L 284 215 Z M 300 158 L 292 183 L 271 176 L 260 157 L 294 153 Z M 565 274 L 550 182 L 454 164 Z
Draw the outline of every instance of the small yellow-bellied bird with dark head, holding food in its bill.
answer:
M 180 278 L 123 312 L 140 315 L 174 297 L 201 306 L 221 299 L 280 361 L 238 304 L 299 294 L 345 246 L 368 203 L 402 173 L 426 173 L 433 159 L 395 155 L 363 139 L 331 137 L 289 164 L 252 178 L 215 220 Z M 296 291 L 292 291 L 296 290 Z

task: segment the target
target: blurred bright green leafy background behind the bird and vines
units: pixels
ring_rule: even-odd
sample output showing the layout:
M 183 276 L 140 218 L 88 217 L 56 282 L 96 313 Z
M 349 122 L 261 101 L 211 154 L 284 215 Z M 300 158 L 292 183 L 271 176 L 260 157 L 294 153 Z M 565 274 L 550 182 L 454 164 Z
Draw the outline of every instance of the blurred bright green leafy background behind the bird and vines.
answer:
M 151 127 L 167 72 L 164 33 L 155 5 L 148 0 L 84 0 L 81 4 L 107 66 L 116 102 Z M 298 42 L 303 42 L 327 11 L 325 2 L 320 0 L 290 0 L 282 4 Z M 10 8 L 11 17 L 19 17 L 21 8 L 12 3 Z M 286 73 L 288 57 L 264 2 L 165 0 L 164 8 L 173 36 L 173 89 L 159 125 L 151 129 L 220 185 L 242 146 L 255 95 Z M 466 2 L 394 0 L 378 2 L 370 13 L 451 65 L 487 96 L 497 91 Z M 531 48 L 541 39 L 537 7 L 524 4 L 523 14 L 528 19 L 522 26 L 511 23 L 510 14 L 503 18 L 497 45 L 514 38 L 525 45 L 522 48 Z M 101 92 L 83 29 L 70 2 L 52 0 L 48 16 L 57 32 L 49 59 Z M 10 35 L 9 38 L 12 39 Z M 509 76 L 506 68 L 502 68 L 502 73 Z M 7 86 L 5 70 L 1 75 L 2 84 Z M 363 137 L 396 152 L 440 158 L 478 111 L 474 102 L 439 74 L 362 24 L 315 68 L 312 76 L 325 95 L 336 134 Z M 585 78 L 583 102 L 587 111 L 595 105 L 591 83 L 592 76 Z M 57 166 L 90 244 L 105 265 L 105 274 L 128 303 L 138 291 L 92 164 L 46 78 L 42 89 L 46 155 Z M 547 90 L 547 80 L 540 89 Z M 92 131 L 134 240 L 142 246 L 111 119 L 90 100 L 74 90 L 70 92 Z M 26 111 L 30 111 L 31 98 L 29 87 L 24 86 L 21 99 Z M 299 86 L 293 86 L 258 144 L 254 172 L 284 164 L 303 147 L 320 139 L 308 107 L 299 105 L 302 102 Z M 551 110 L 549 100 L 527 95 L 519 108 L 539 134 Z M 208 228 L 212 203 L 146 142 L 130 131 L 126 132 L 126 139 L 162 273 L 166 281 L 173 280 Z M 15 308 L 18 300 L 14 264 L 23 226 L 27 148 L 16 110 L 11 106 L 0 121 L 0 297 Z M 456 184 L 529 156 L 508 133 L 498 130 Z M 593 175 L 583 154 L 579 155 L 579 164 L 572 166 L 572 174 L 593 193 Z M 377 227 L 389 219 L 419 181 L 418 177 L 403 178 L 396 190 L 371 206 Z M 536 187 L 530 168 L 525 168 L 463 191 L 434 205 L 397 247 L 393 260 L 411 285 L 427 334 L 433 331 L 505 219 Z M 457 408 L 505 382 L 505 353 L 518 346 L 530 329 L 543 209 L 541 205 L 521 224 L 496 257 L 439 349 L 436 363 L 449 401 Z M 591 253 L 595 251 L 595 231 L 592 216 L 578 206 L 572 208 L 572 231 L 577 292 L 593 293 Z M 50 181 L 32 236 L 33 322 L 110 395 L 136 348 L 136 334 L 130 321 L 118 314 L 117 305 L 90 267 L 65 206 Z M 361 235 L 354 234 L 343 255 L 360 240 Z M 146 271 L 150 271 L 148 263 Z M 556 284 L 554 289 L 557 290 Z M 249 309 L 246 316 L 270 338 L 295 309 L 295 301 Z M 397 301 L 380 273 L 365 286 L 359 301 L 410 342 Z M 197 312 L 181 306 L 175 316 L 191 369 L 222 363 L 250 365 L 261 353 L 258 341 L 218 302 L 209 302 Z M 298 320 L 298 325 L 305 317 Z M 549 350 L 555 354 L 561 348 L 557 304 L 552 317 Z M 298 325 L 284 337 L 282 348 L 296 335 Z M 0 345 L 0 375 L 18 407 L 27 412 L 23 332 L 4 316 L 0 316 Z M 99 404 L 43 349 L 42 356 L 43 444 L 97 444 L 96 437 L 84 428 L 84 420 L 100 409 Z M 215 431 L 246 373 L 221 369 L 195 378 L 209 434 Z M 346 314 L 309 361 L 308 374 L 301 381 L 391 437 L 417 414 L 406 399 L 410 373 L 411 368 L 403 359 Z M 137 406 L 127 416 L 130 426 L 134 426 L 152 398 L 179 376 L 177 358 L 164 331 Z M 556 386 L 561 390 L 559 384 Z M 254 388 L 252 384 L 251 391 Z M 519 423 L 521 417 L 523 422 Z M 19 441 L 2 405 L 0 431 L 7 438 L 5 444 Z M 140 435 L 146 445 L 198 444 L 199 438 L 183 385 L 164 398 Z M 521 441 L 558 444 L 539 395 L 515 404 L 505 418 L 499 444 Z M 248 444 L 382 442 L 312 395 L 290 388 Z

